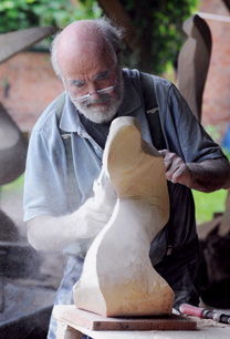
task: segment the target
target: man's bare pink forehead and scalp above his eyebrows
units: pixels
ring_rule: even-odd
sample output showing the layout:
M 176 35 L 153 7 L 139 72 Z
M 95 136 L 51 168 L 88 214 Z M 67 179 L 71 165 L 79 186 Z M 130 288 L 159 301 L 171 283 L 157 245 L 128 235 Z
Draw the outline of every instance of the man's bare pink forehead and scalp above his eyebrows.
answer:
M 76 33 L 75 30 L 71 30 L 70 35 L 64 32 L 61 37 L 58 62 L 62 75 L 69 82 L 96 80 L 114 65 L 115 55 L 112 47 L 98 30 L 94 30 L 93 35 L 87 35 L 90 31 L 77 30 Z

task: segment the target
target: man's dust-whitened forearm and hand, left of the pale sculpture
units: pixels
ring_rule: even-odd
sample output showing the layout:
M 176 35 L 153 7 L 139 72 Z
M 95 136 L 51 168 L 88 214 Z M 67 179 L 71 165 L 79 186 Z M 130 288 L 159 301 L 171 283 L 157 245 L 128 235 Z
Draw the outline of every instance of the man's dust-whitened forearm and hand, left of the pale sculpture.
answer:
M 93 197 L 70 215 L 34 217 L 27 223 L 29 243 L 36 250 L 55 251 L 79 239 L 94 238 L 109 220 L 113 206 L 113 202 Z

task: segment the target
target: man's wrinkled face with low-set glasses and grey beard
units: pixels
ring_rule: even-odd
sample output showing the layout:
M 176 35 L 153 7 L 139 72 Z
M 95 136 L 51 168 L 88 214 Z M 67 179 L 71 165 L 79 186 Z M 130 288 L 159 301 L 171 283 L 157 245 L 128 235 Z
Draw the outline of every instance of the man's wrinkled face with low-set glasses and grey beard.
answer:
M 65 89 L 76 109 L 88 120 L 95 123 L 111 121 L 124 97 L 117 55 L 94 44 L 81 52 L 61 64 Z

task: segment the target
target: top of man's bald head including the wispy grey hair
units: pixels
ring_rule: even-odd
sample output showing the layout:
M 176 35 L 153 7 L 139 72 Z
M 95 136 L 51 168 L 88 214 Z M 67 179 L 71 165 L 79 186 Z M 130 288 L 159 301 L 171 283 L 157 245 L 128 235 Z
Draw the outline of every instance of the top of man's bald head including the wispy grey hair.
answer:
M 61 76 L 65 66 L 74 60 L 84 64 L 88 58 L 115 59 L 119 51 L 123 31 L 108 20 L 82 20 L 67 25 L 51 45 L 51 60 L 55 73 Z

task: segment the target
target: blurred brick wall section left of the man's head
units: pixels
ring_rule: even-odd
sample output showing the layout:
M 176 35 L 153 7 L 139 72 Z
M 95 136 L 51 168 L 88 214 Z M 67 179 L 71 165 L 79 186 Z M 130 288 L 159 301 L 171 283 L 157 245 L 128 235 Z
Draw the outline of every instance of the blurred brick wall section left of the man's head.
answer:
M 0 65 L 0 101 L 23 132 L 62 91 L 49 53 L 19 53 Z

